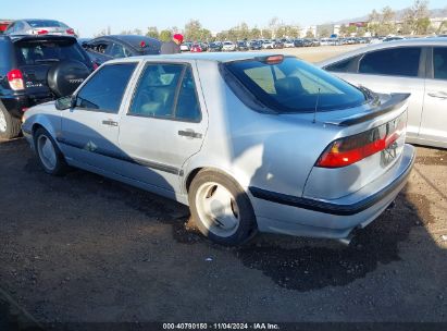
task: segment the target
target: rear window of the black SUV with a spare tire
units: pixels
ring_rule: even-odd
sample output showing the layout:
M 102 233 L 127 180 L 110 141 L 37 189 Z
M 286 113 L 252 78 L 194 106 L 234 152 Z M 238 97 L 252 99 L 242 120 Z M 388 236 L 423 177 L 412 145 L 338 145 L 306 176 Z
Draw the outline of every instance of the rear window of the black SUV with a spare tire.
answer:
M 29 40 L 15 44 L 15 49 L 21 65 L 76 60 L 89 68 L 91 66 L 89 59 L 74 39 L 58 41 Z

